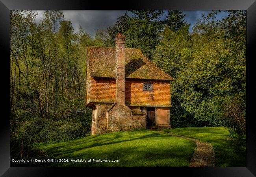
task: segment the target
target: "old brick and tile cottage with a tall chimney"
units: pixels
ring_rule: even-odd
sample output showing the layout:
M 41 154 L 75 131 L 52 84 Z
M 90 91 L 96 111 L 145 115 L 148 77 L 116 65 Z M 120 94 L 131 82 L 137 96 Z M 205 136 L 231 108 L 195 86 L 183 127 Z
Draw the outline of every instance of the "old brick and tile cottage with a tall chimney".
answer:
M 92 109 L 91 135 L 139 128 L 170 128 L 169 76 L 141 49 L 87 47 L 86 106 Z

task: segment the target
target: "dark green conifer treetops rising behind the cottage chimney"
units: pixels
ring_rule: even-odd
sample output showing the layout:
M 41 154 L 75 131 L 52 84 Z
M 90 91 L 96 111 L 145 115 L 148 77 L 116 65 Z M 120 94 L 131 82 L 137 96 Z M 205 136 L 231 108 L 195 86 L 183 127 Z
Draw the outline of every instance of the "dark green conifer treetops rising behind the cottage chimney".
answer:
M 112 28 L 108 28 L 109 39 L 106 42 L 114 46 L 113 39 L 118 32 L 121 32 L 126 35 L 126 47 L 141 48 L 143 54 L 149 59 L 154 55 L 156 46 L 160 42 L 160 33 L 165 26 L 177 31 L 186 25 L 182 11 L 168 11 L 165 20 L 161 20 L 163 10 L 131 10 L 130 12 L 132 15 L 129 16 L 126 12 L 118 17 Z

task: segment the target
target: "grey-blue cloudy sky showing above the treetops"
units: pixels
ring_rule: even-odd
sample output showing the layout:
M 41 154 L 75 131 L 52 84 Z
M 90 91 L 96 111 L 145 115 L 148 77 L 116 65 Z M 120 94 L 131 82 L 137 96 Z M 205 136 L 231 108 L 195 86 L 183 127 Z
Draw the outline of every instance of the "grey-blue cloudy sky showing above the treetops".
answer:
M 43 17 L 44 11 L 38 12 L 35 22 L 38 24 Z M 70 20 L 75 32 L 79 31 L 81 25 L 83 30 L 87 31 L 91 37 L 95 35 L 97 30 L 107 29 L 109 26 L 113 26 L 117 21 L 117 17 L 123 15 L 126 10 L 63 10 L 64 19 Z M 202 17 L 204 13 L 207 15 L 211 11 L 183 11 L 185 20 L 191 24 L 189 30 L 192 30 L 198 18 Z M 165 14 L 167 11 L 165 11 Z M 129 13 L 128 13 L 129 14 Z M 165 18 L 165 14 L 161 17 Z M 221 19 L 228 15 L 227 12 L 218 13 L 217 19 Z

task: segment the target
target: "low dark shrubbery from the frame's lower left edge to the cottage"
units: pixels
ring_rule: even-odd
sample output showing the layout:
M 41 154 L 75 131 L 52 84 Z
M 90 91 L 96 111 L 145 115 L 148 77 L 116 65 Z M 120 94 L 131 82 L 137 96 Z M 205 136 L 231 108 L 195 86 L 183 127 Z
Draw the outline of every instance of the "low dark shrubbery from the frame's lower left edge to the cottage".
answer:
M 79 120 L 51 121 L 31 118 L 21 124 L 11 136 L 11 157 L 33 157 L 36 147 L 70 141 L 87 136 L 87 127 Z M 34 149 L 34 150 L 33 150 Z

